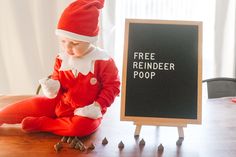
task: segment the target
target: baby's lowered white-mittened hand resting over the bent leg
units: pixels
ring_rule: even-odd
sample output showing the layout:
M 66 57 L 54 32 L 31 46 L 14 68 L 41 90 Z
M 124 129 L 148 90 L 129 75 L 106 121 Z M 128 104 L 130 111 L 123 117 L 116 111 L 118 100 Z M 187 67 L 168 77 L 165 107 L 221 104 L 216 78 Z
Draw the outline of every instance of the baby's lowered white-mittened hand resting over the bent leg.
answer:
M 102 117 L 102 112 L 100 105 L 94 102 L 91 105 L 75 109 L 74 115 L 97 119 Z

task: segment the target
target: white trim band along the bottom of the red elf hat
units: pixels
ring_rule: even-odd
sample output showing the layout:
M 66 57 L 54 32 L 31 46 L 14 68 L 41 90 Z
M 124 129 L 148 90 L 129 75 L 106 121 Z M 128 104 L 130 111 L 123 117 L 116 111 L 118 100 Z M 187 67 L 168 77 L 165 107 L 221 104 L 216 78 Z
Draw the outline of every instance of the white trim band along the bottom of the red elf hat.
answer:
M 90 42 L 90 43 L 95 42 L 98 39 L 98 36 L 90 37 L 90 36 L 85 36 L 85 35 L 79 35 L 79 34 L 68 32 L 62 29 L 56 29 L 55 33 L 58 36 L 63 36 L 63 37 L 70 38 L 73 40 L 85 41 L 85 42 Z

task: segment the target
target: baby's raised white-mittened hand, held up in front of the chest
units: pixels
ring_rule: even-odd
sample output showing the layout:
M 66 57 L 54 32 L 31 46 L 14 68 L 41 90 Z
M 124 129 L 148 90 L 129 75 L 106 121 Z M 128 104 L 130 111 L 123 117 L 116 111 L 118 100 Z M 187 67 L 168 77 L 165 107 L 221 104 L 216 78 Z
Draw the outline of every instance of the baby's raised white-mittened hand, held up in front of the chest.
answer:
M 39 80 L 43 94 L 48 98 L 55 98 L 60 89 L 60 82 L 50 78 L 43 78 Z

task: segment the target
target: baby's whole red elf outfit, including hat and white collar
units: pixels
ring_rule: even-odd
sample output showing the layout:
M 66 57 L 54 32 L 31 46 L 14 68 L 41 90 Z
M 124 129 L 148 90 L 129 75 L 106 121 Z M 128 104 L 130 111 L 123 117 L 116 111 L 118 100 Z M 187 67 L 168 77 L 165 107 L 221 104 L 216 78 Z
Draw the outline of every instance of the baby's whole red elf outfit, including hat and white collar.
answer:
M 94 41 L 98 33 L 97 10 L 102 6 L 103 0 L 75 1 L 61 16 L 57 34 L 77 40 L 82 37 L 87 42 Z M 89 10 L 92 14 L 85 16 L 84 12 L 89 14 Z M 82 15 L 82 18 L 76 18 L 76 23 L 74 16 L 77 17 L 77 14 Z M 92 16 L 96 16 L 96 27 L 91 28 L 90 23 L 86 27 L 85 24 Z M 83 34 L 84 30 L 72 27 L 71 22 L 73 25 L 82 23 L 83 27 L 91 30 L 86 29 Z M 59 85 L 56 97 L 36 96 L 11 104 L 0 110 L 0 125 L 22 123 L 26 132 L 46 131 L 63 136 L 86 136 L 96 131 L 102 118 L 89 118 L 77 110 L 98 103 L 101 108 L 99 112 L 103 115 L 120 92 L 118 70 L 113 59 L 99 48 L 79 59 L 65 54 L 60 53 L 56 58 L 52 74 L 52 80 Z

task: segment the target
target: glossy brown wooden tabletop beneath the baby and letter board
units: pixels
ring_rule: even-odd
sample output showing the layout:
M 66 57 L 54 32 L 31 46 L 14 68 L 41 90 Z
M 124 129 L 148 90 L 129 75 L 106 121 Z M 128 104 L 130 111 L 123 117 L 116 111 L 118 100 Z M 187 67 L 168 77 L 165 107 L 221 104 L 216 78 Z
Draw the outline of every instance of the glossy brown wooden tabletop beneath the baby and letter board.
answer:
M 26 96 L 28 97 L 28 96 Z M 0 107 L 24 96 L 0 96 Z M 63 144 L 61 151 L 56 152 L 54 144 L 61 137 L 49 133 L 26 134 L 19 125 L 0 127 L 0 157 L 235 157 L 236 156 L 236 103 L 230 98 L 203 98 L 202 125 L 188 125 L 184 128 L 185 139 L 181 146 L 176 145 L 178 132 L 176 127 L 143 126 L 141 134 L 135 138 L 135 126 L 132 122 L 119 120 L 119 98 L 104 116 L 99 130 L 93 135 L 81 139 L 89 146 L 95 145 L 92 151 L 80 152 Z M 107 138 L 108 144 L 102 145 Z M 139 146 L 144 139 L 146 144 Z M 119 149 L 122 141 L 124 148 Z M 164 151 L 158 152 L 162 144 Z

